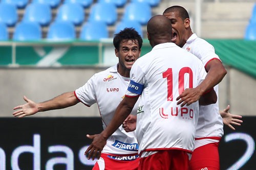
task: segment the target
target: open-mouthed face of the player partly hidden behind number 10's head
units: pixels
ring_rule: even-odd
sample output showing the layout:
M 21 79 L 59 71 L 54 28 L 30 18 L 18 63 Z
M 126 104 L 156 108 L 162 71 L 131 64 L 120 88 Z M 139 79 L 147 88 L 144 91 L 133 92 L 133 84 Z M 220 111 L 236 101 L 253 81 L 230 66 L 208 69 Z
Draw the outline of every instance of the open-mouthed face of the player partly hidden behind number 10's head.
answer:
M 170 19 L 173 27 L 173 38 L 172 42 L 182 47 L 186 43 L 186 25 L 179 12 L 167 12 L 163 14 L 165 17 Z

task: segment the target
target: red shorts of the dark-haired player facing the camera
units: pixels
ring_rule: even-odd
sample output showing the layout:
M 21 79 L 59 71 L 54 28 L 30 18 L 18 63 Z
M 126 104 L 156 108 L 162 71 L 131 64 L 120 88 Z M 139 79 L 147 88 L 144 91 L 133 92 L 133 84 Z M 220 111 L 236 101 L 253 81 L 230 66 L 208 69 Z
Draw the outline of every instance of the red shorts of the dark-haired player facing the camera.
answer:
M 92 170 L 137 170 L 139 166 L 139 155 L 118 156 L 101 154 Z

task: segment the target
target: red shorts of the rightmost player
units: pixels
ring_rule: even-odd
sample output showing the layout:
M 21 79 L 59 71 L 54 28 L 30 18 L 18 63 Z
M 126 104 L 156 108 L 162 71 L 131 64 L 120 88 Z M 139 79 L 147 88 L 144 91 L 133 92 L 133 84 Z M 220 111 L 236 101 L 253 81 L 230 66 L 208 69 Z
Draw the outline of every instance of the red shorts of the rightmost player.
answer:
M 190 170 L 219 170 L 219 142 L 208 143 L 194 150 L 189 161 Z

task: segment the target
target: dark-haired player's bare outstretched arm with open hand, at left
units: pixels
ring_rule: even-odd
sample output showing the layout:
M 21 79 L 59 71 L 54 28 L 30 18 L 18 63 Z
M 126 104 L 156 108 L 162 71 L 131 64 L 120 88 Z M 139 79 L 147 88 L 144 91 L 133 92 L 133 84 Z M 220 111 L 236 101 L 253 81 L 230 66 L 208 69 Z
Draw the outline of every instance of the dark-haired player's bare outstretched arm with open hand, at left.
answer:
M 32 100 L 29 100 L 26 96 L 23 99 L 27 102 L 24 105 L 19 105 L 13 108 L 14 111 L 12 114 L 15 117 L 25 117 L 33 115 L 37 112 L 62 109 L 70 106 L 74 106 L 79 103 L 79 100 L 76 99 L 74 92 L 66 92 L 61 95 L 56 96 L 55 98 L 41 103 L 35 103 Z M 18 109 L 18 110 L 17 110 Z

